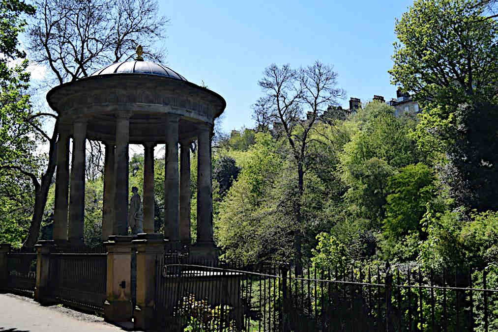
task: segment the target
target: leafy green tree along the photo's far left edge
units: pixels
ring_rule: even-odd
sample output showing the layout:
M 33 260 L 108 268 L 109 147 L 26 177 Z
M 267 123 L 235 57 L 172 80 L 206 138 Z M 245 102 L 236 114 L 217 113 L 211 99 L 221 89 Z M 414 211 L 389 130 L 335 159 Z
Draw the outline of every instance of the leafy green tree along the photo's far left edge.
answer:
M 34 184 L 31 178 L 18 179 L 16 175 L 21 170 L 32 175 L 39 166 L 33 156 L 33 127 L 26 122 L 32 115 L 26 94 L 28 61 L 18 39 L 26 26 L 26 16 L 33 13 L 34 7 L 24 1 L 0 3 L 0 240 L 15 246 L 24 239 L 33 212 Z M 19 64 L 10 66 L 19 60 Z

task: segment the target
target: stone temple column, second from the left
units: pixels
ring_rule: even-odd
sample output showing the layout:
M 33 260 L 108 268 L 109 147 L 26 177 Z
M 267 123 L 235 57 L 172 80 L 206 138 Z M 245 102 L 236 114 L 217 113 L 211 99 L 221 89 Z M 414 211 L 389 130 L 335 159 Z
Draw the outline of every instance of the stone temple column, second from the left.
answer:
M 85 142 L 86 119 L 77 119 L 73 129 L 73 161 L 69 205 L 69 234 L 71 245 L 83 244 L 85 218 Z

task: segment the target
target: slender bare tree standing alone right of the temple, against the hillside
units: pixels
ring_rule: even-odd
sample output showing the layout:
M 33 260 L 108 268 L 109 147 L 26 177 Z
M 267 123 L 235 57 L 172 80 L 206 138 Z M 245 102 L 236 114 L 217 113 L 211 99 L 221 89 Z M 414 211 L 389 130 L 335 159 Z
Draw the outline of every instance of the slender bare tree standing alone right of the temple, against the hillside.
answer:
M 288 142 L 297 175 L 297 192 L 293 198 L 294 250 L 296 255 L 296 274 L 302 273 L 303 215 L 301 200 L 304 193 L 304 174 L 309 159 L 308 145 L 311 129 L 320 119 L 324 109 L 336 105 L 343 98 L 344 91 L 337 88 L 337 73 L 333 67 L 315 61 L 311 66 L 294 70 L 286 64 L 267 67 L 263 78 L 258 82 L 264 96 L 254 106 L 259 114 L 255 117 L 273 119 L 281 123 Z M 264 106 L 258 106 L 264 102 Z M 304 112 L 306 111 L 306 117 Z M 261 114 L 264 112 L 264 115 Z

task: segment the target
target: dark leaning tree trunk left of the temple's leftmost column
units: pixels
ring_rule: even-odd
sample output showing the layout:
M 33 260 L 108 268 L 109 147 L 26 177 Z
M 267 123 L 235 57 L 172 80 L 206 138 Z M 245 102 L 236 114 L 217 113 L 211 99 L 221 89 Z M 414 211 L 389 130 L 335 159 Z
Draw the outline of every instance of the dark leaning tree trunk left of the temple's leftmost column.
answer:
M 47 204 L 48 191 L 50 189 L 50 184 L 52 183 L 52 178 L 55 173 L 55 166 L 57 165 L 57 144 L 56 144 L 57 133 L 58 133 L 58 120 L 55 121 L 52 139 L 49 141 L 50 149 L 48 153 L 47 170 L 41 176 L 40 184 L 37 183 L 34 184 L 35 201 L 34 201 L 33 217 L 31 218 L 31 223 L 29 225 L 28 236 L 26 237 L 26 240 L 22 244 L 24 248 L 34 247 L 40 235 L 41 221 L 43 219 L 45 205 Z

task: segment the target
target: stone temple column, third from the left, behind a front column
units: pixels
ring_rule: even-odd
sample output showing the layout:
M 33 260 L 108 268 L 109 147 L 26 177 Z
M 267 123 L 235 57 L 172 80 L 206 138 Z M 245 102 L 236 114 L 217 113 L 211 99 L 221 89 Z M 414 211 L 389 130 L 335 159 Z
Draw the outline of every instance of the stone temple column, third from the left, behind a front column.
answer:
M 104 161 L 104 202 L 102 204 L 102 240 L 107 240 L 110 235 L 118 232 L 114 226 L 114 143 L 104 142 L 106 157 Z

